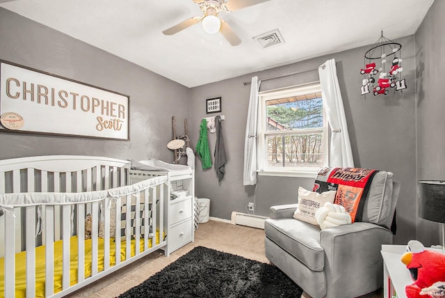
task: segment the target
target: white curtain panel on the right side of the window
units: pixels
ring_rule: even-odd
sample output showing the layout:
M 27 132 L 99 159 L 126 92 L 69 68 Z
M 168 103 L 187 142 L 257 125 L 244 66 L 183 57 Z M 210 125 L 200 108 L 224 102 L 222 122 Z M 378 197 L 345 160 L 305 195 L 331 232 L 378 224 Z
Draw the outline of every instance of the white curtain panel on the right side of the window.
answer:
M 343 99 L 341 98 L 335 60 L 326 61 L 318 68 L 323 106 L 331 129 L 330 166 L 354 167 L 346 124 Z

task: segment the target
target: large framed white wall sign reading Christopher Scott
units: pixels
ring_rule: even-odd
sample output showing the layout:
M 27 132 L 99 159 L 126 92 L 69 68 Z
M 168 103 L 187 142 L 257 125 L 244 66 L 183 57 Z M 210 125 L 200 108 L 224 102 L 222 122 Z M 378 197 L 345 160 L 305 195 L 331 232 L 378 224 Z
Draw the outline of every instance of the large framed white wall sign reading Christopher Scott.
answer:
M 0 132 L 129 140 L 129 96 L 0 60 Z

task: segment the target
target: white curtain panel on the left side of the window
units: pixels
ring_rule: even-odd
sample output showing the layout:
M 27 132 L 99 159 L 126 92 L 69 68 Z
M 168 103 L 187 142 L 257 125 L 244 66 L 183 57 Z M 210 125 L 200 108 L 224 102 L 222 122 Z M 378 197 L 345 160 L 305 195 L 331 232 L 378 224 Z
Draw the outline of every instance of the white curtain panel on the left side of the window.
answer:
M 245 126 L 244 142 L 244 173 L 243 185 L 257 184 L 257 125 L 258 125 L 258 77 L 252 77 L 250 86 L 250 100 L 248 110 L 248 122 Z

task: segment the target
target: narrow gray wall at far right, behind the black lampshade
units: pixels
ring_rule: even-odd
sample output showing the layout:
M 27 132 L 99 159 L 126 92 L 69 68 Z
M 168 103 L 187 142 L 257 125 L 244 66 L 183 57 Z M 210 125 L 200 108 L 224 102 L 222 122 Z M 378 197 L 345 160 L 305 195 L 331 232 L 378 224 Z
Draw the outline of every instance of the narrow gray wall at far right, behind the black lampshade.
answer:
M 445 1 L 416 32 L 417 180 L 445 180 Z M 437 244 L 439 224 L 416 217 L 416 239 Z

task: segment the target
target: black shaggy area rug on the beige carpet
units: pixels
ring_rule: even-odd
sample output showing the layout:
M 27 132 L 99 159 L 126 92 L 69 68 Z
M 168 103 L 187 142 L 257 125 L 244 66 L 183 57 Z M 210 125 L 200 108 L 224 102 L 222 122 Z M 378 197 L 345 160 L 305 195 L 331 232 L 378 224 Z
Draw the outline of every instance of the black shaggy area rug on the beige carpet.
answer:
M 277 267 L 198 246 L 119 297 L 300 297 Z

